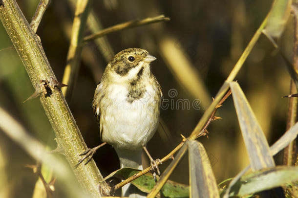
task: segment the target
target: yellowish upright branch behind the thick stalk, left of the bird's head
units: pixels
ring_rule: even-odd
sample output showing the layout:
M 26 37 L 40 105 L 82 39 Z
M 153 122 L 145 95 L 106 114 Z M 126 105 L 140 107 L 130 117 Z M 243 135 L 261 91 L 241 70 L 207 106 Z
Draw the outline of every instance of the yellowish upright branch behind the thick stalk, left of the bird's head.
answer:
M 81 55 L 83 49 L 83 37 L 85 32 L 86 21 L 90 9 L 90 0 L 78 0 L 75 17 L 72 24 L 72 35 L 67 54 L 66 66 L 62 83 L 69 87 L 62 88 L 66 99 L 71 97 L 74 88 L 75 79 L 78 76 Z

